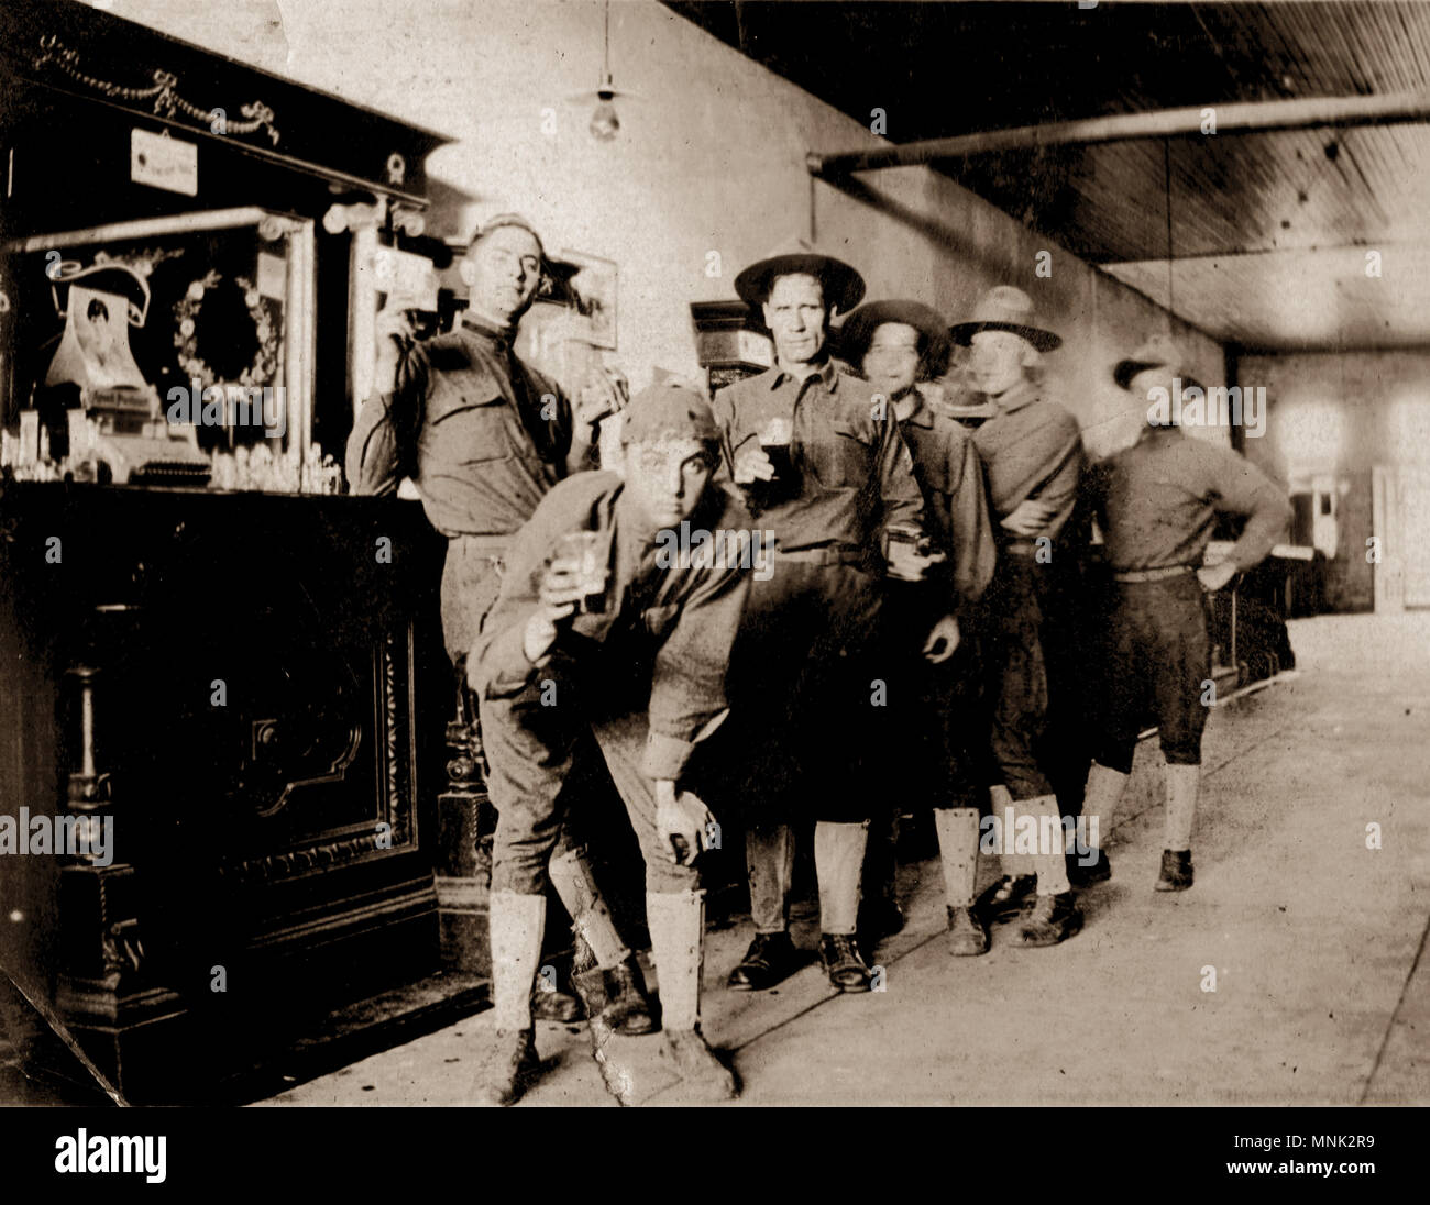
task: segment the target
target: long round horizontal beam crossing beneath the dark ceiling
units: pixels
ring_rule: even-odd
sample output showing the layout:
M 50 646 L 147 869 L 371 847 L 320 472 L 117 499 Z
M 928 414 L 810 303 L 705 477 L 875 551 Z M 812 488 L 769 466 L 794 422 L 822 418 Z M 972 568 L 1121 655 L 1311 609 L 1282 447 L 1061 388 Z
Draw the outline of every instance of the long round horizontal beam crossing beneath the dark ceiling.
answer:
M 1217 134 L 1307 130 L 1317 126 L 1389 126 L 1430 120 L 1430 93 L 1318 96 L 1307 100 L 1254 100 L 1193 109 L 1158 109 L 1151 113 L 1118 113 L 1111 117 L 925 139 L 872 150 L 809 152 L 805 163 L 814 176 L 842 176 L 848 172 L 909 167 L 940 159 L 964 159 L 970 154 L 1004 150 L 1198 134 L 1207 122 L 1208 110 L 1216 117 Z M 1211 136 L 1210 132 L 1207 136 Z

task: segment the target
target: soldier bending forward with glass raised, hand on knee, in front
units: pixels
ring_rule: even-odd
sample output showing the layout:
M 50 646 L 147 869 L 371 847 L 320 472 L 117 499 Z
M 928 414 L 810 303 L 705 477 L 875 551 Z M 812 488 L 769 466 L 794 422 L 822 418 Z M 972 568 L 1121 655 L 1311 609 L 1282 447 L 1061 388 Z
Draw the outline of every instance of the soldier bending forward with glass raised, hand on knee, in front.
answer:
M 562 829 L 561 788 L 583 730 L 605 755 L 645 855 L 666 1049 L 689 1086 L 712 1098 L 736 1092 L 699 1026 L 705 906 L 691 861 L 714 819 L 681 783 L 696 743 L 726 716 L 725 670 L 749 575 L 734 557 L 672 562 L 661 547 L 686 522 L 689 530 L 738 533 L 749 520 L 734 490 L 711 485 L 719 430 L 694 390 L 671 382 L 642 390 L 622 442 L 625 480 L 579 473 L 536 507 L 468 662 L 499 818 L 496 1046 L 479 1085 L 493 1104 L 515 1099 L 538 1068 L 529 986 L 542 891 Z

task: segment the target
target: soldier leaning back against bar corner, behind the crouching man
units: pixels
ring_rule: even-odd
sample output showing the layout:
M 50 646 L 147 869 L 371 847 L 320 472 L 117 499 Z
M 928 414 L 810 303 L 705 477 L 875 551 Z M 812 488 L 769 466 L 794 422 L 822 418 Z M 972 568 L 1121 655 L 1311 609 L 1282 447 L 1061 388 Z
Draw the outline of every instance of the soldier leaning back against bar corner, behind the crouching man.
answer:
M 619 405 L 616 382 L 595 377 L 573 413 L 561 386 L 512 350 L 545 263 L 531 223 L 498 214 L 476 232 L 460 263 L 470 293 L 450 334 L 416 343 L 400 313 L 385 312 L 378 392 L 347 440 L 355 493 L 395 495 L 410 477 L 432 526 L 448 537 L 442 629 L 459 678 L 516 530 L 556 482 L 593 463 L 593 420 Z M 558 846 L 552 882 L 605 972 L 608 991 L 585 993 L 588 1003 L 621 1032 L 651 1032 L 639 963 L 569 836 Z

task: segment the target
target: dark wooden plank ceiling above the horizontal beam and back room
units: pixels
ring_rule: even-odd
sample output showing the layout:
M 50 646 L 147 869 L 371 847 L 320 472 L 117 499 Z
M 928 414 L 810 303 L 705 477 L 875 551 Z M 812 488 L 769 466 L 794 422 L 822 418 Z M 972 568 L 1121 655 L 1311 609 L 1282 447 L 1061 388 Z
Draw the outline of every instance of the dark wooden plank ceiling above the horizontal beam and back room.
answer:
M 1424 0 L 668 6 L 861 122 L 884 109 L 892 142 L 1430 91 Z M 1430 344 L 1427 124 L 1048 147 L 937 167 L 1224 342 Z M 1369 252 L 1380 276 L 1367 273 Z

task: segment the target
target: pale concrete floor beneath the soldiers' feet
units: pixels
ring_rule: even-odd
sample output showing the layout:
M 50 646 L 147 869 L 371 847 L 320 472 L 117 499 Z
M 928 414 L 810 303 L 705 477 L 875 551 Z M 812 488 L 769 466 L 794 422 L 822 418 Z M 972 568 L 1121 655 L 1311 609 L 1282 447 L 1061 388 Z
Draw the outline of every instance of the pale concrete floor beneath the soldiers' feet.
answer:
M 1087 928 L 1061 946 L 1017 949 L 995 926 L 987 956 L 951 958 L 937 862 L 904 871 L 909 923 L 871 959 L 882 992 L 841 996 L 814 966 L 725 991 L 748 923 L 711 933 L 705 1031 L 742 1104 L 1430 1102 L 1430 615 L 1300 620 L 1291 640 L 1297 675 L 1211 716 L 1190 892 L 1151 889 L 1160 753 L 1144 742 L 1114 878 L 1084 892 Z M 490 1031 L 485 1012 L 265 1104 L 460 1105 Z M 661 1046 L 611 1043 L 632 1104 L 682 1102 Z M 615 1106 L 585 1026 L 539 1026 L 538 1048 L 523 1105 Z

